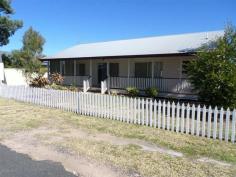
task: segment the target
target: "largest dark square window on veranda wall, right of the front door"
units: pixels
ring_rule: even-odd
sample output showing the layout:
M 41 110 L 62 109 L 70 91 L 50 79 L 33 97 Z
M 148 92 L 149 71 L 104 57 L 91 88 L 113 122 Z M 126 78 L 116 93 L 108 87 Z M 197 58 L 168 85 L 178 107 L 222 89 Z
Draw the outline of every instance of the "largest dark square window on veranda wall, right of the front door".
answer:
M 135 77 L 151 77 L 152 63 L 135 63 Z

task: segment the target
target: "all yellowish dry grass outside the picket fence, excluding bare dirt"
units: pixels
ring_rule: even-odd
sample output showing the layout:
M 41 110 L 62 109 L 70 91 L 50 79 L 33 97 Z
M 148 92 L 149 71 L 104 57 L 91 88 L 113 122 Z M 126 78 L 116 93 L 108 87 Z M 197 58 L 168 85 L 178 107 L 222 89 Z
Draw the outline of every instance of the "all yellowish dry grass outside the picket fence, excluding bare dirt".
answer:
M 57 131 L 38 135 L 42 143 L 67 148 L 76 154 L 114 164 L 142 176 L 233 176 L 236 173 L 236 145 L 232 143 L 109 119 L 79 116 L 4 99 L 0 99 L 0 115 L 0 141 L 16 132 L 46 127 Z M 137 145 L 118 146 L 105 141 L 65 136 L 70 134 L 71 129 L 142 139 L 182 152 L 185 157 L 173 158 L 158 152 L 144 152 Z M 55 137 L 63 138 L 55 141 Z M 229 162 L 232 166 L 199 162 L 196 159 L 200 157 Z

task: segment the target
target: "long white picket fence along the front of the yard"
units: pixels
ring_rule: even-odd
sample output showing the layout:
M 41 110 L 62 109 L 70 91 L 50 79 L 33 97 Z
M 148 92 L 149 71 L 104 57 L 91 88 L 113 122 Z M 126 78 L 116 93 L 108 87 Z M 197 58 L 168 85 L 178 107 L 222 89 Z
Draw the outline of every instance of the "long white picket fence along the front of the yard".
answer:
M 0 97 L 235 143 L 236 110 L 94 93 L 0 86 Z

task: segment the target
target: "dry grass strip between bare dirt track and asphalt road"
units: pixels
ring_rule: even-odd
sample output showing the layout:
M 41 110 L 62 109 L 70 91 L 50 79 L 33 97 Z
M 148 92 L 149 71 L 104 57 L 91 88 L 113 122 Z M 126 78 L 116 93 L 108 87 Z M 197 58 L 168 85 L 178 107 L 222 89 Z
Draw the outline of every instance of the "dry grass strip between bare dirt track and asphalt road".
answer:
M 228 177 L 235 168 L 202 163 L 187 158 L 173 158 L 165 154 L 144 152 L 139 146 L 114 146 L 105 142 L 92 142 L 84 139 L 67 139 L 56 143 L 58 147 L 70 149 L 80 155 L 100 159 L 122 167 L 125 171 L 135 171 L 141 176 L 152 177 Z

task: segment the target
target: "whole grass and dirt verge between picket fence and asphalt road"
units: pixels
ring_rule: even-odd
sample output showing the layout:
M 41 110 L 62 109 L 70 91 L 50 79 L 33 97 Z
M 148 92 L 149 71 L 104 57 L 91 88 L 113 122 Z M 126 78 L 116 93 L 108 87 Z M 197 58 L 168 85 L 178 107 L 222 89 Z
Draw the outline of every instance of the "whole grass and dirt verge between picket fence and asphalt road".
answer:
M 231 143 L 0 99 L 0 143 L 85 177 L 234 176 Z

